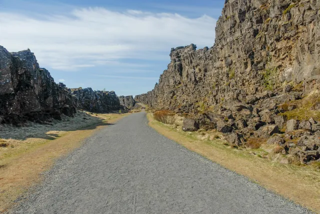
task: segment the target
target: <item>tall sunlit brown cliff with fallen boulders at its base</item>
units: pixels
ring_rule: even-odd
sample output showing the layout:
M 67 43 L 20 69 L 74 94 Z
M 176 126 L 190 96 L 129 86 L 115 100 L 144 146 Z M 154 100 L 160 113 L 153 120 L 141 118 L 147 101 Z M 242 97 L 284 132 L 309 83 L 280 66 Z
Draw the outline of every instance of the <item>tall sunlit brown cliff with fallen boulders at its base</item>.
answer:
M 301 162 L 316 160 L 319 123 L 287 121 L 281 113 L 296 106 L 280 106 L 320 86 L 319 9 L 318 0 L 226 0 L 214 45 L 172 48 L 159 83 L 135 100 L 184 113 L 195 119 L 185 121 L 186 129 L 216 128 L 238 145 L 286 127 L 286 135 L 268 142 Z

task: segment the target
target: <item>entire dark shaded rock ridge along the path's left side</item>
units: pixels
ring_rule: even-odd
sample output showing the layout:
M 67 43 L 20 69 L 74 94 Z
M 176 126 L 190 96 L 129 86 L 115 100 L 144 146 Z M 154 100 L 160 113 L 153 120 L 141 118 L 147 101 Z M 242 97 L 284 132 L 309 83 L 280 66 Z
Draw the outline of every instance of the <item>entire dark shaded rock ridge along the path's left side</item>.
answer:
M 57 84 L 48 70 L 39 67 L 29 49 L 10 53 L 0 46 L 0 123 L 60 119 L 62 113 L 72 116 L 76 108 L 110 112 L 128 109 L 135 103 L 126 100 L 120 104 L 114 91 L 69 89 L 63 83 Z

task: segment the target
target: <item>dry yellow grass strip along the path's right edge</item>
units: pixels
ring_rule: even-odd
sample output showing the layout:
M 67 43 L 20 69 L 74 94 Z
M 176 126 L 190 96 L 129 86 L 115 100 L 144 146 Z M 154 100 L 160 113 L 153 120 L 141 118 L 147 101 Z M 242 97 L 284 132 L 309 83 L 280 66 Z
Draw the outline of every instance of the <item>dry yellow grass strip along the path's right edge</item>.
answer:
M 224 167 L 249 177 L 267 189 L 277 192 L 295 202 L 320 211 L 320 171 L 311 166 L 297 166 L 282 164 L 290 157 L 283 157 L 280 153 L 273 154 L 278 161 L 270 161 L 263 157 L 267 153 L 261 148 L 252 151 L 236 149 L 223 145 L 219 139 L 205 139 L 198 137 L 198 133 L 188 133 L 172 128 L 156 121 L 148 114 L 149 125 L 166 137 L 180 143 L 189 150 L 195 151 Z M 213 133 L 212 133 L 213 135 Z M 261 147 L 270 152 L 276 145 L 262 144 Z M 261 153 L 257 153 L 261 152 Z

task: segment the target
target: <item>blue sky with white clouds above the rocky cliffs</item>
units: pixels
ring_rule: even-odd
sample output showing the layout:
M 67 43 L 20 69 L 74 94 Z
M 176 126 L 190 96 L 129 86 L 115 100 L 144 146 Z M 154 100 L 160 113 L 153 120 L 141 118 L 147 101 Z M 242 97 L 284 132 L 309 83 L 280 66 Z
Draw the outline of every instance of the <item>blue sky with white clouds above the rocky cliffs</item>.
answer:
M 224 0 L 0 0 L 0 45 L 30 48 L 67 87 L 136 95 L 171 47 L 212 46 Z

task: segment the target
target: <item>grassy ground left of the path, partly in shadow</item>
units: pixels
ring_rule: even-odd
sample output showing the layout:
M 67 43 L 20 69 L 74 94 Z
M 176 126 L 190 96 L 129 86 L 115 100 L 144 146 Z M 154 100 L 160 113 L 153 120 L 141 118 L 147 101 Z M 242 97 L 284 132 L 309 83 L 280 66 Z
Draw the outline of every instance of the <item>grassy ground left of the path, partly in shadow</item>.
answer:
M 0 212 L 29 187 L 41 181 L 41 172 L 54 161 L 79 147 L 84 138 L 127 114 L 89 114 L 25 127 L 1 126 Z

